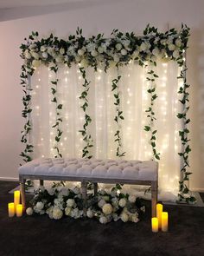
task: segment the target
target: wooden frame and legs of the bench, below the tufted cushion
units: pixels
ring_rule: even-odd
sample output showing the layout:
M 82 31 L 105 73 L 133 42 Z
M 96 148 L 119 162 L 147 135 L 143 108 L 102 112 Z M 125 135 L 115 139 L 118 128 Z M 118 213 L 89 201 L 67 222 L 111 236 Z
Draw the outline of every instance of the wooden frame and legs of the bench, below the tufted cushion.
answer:
M 74 177 L 74 176 L 53 176 L 53 175 L 30 175 L 30 174 L 20 174 L 20 189 L 22 194 L 22 207 L 25 210 L 26 200 L 25 200 L 25 181 L 26 180 L 40 180 L 40 185 L 43 185 L 43 181 L 80 181 L 82 197 L 86 200 L 86 185 L 87 182 L 94 183 L 94 194 L 97 193 L 98 182 L 106 184 L 131 184 L 131 185 L 147 185 L 151 186 L 151 215 L 156 217 L 156 203 L 157 203 L 157 193 L 158 193 L 158 182 L 157 181 L 134 181 L 134 180 L 123 180 L 117 178 L 92 178 L 92 177 Z

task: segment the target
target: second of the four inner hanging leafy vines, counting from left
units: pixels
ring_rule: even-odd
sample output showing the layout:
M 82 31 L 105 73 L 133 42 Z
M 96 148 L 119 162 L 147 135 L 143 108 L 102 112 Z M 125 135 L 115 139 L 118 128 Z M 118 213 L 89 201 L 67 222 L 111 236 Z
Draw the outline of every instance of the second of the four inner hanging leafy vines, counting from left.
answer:
M 92 145 L 92 135 L 88 132 L 88 127 L 90 126 L 92 122 L 92 118 L 90 115 L 88 115 L 88 91 L 90 89 L 89 84 L 90 82 L 87 81 L 86 79 L 86 70 L 83 67 L 80 67 L 80 73 L 82 75 L 82 78 L 84 80 L 84 83 L 82 84 L 83 91 L 81 92 L 80 95 L 80 100 L 82 101 L 82 105 L 80 108 L 83 109 L 84 114 L 85 114 L 85 123 L 83 125 L 83 129 L 80 130 L 79 132 L 83 136 L 83 141 L 85 141 L 86 145 L 82 149 L 82 157 L 86 157 L 88 159 L 92 158 L 92 154 L 90 149 L 93 147 Z

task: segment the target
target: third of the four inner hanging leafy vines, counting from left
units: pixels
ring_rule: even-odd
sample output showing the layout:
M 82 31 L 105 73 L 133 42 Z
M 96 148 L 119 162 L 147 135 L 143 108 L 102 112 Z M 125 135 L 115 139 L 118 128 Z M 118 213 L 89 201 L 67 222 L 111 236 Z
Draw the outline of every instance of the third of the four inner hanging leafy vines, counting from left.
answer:
M 125 154 L 125 152 L 121 152 L 122 138 L 121 138 L 120 122 L 121 120 L 124 120 L 124 116 L 123 116 L 123 111 L 120 109 L 121 99 L 120 99 L 120 93 L 118 89 L 118 82 L 120 78 L 121 78 L 121 75 L 118 75 L 117 78 L 112 80 L 112 92 L 115 100 L 114 105 L 116 106 L 116 115 L 115 115 L 114 121 L 116 121 L 117 123 L 117 131 L 114 137 L 115 137 L 115 142 L 118 143 L 118 146 L 116 148 L 116 156 L 118 157 L 122 157 Z

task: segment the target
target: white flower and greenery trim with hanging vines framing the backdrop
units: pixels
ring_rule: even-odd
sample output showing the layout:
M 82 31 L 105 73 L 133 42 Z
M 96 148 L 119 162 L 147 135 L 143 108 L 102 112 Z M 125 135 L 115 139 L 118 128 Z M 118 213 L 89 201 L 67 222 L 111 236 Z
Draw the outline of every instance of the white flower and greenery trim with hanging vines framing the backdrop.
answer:
M 110 38 L 105 38 L 104 35 L 99 34 L 98 36 L 92 36 L 89 39 L 86 39 L 82 36 L 82 30 L 78 29 L 76 35 L 71 35 L 68 37 L 68 40 L 60 40 L 56 36 L 50 35 L 48 38 L 38 39 L 38 33 L 33 32 L 29 39 L 26 39 L 26 44 L 22 44 L 22 58 L 24 59 L 24 64 L 22 65 L 22 86 L 24 89 L 25 96 L 23 96 L 23 104 L 24 109 L 22 111 L 23 117 L 26 118 L 26 123 L 24 127 L 24 131 L 22 134 L 22 142 L 25 143 L 25 150 L 22 152 L 22 157 L 25 161 L 31 160 L 31 154 L 33 152 L 33 145 L 29 141 L 29 134 L 32 129 L 32 123 L 30 121 L 30 113 L 32 112 L 31 108 L 31 95 L 29 89 L 29 76 L 35 73 L 35 69 L 41 66 L 41 64 L 51 65 L 54 67 L 54 72 L 58 73 L 58 69 L 62 64 L 66 64 L 69 68 L 71 68 L 75 64 L 79 64 L 79 69 L 86 69 L 86 67 L 92 67 L 95 70 L 102 69 L 105 72 L 116 66 L 117 69 L 120 66 L 124 66 L 129 64 L 131 61 L 137 63 L 142 67 L 146 67 L 149 69 L 149 74 L 146 73 L 145 77 L 150 79 L 150 82 L 154 82 L 152 77 L 149 75 L 153 74 L 154 67 L 156 67 L 156 63 L 159 62 L 160 59 L 168 62 L 169 60 L 173 60 L 177 62 L 178 66 L 183 67 L 183 70 L 186 70 L 185 67 L 185 59 L 184 53 L 187 49 L 189 36 L 189 29 L 187 26 L 182 25 L 182 30 L 171 29 L 163 32 L 158 32 L 158 30 L 154 27 L 147 26 L 147 28 L 143 31 L 143 36 L 136 36 L 132 33 L 122 33 L 118 30 L 113 30 L 112 36 Z M 190 148 L 188 145 L 188 128 L 186 118 L 188 107 L 186 107 L 187 97 L 188 97 L 188 84 L 186 82 L 186 71 L 181 72 L 181 79 L 183 84 L 183 89 L 180 89 L 179 93 L 183 95 L 184 100 L 181 101 L 184 106 L 183 113 L 179 113 L 177 117 L 181 120 L 184 120 L 185 127 L 182 128 L 179 132 L 182 144 L 184 145 L 183 151 L 179 153 L 182 158 L 182 180 L 180 181 L 180 194 L 179 200 L 187 200 L 188 202 L 194 201 L 194 197 L 189 193 L 187 183 L 188 176 L 191 174 L 188 171 L 188 153 L 190 152 Z M 83 74 L 82 74 L 83 75 Z M 157 75 L 157 74 L 156 74 Z M 154 75 L 153 75 L 154 76 Z M 117 79 L 118 75 L 113 78 Z M 158 78 L 155 76 L 155 78 Z M 86 82 L 86 74 L 83 75 L 83 79 Z M 156 79 L 157 80 L 157 79 Z M 88 81 L 88 80 L 87 80 Z M 58 85 L 58 81 L 51 81 L 55 86 Z M 81 84 L 83 86 L 83 83 Z M 156 87 L 155 85 L 153 85 Z M 151 89 L 152 86 L 151 86 Z M 53 89 L 52 89 L 53 90 Z M 53 90 L 53 94 L 57 93 Z M 113 92 L 114 95 L 114 92 Z M 151 102 L 152 103 L 152 92 Z M 153 95 L 154 96 L 154 95 Z M 85 95 L 88 98 L 88 94 Z M 116 97 L 114 95 L 114 97 Z M 122 102 L 120 95 L 118 95 L 119 104 Z M 57 100 L 57 99 L 56 99 Z M 154 96 L 154 105 L 157 101 L 157 95 Z M 55 111 L 63 109 L 63 104 L 55 103 Z M 86 100 L 87 106 L 89 108 L 88 100 Z M 151 106 L 151 104 L 150 104 Z M 149 106 L 149 107 L 150 107 Z M 148 106 L 147 106 L 148 107 Z M 120 106 L 118 106 L 120 108 Z M 121 109 L 121 108 L 120 108 Z M 149 108 L 146 108 L 147 110 Z M 116 111 L 118 111 L 116 109 Z M 155 110 L 154 110 L 155 111 Z M 118 112 L 119 113 L 119 112 Z M 123 113 L 123 110 L 122 110 Z M 89 157 L 92 156 L 91 150 L 92 145 L 90 145 L 89 139 L 92 137 L 89 134 L 89 128 L 91 124 L 92 117 L 90 115 L 86 115 L 86 109 L 84 109 L 85 120 L 83 123 L 84 129 L 84 138 L 82 139 L 85 143 L 83 143 L 83 152 L 87 151 L 86 154 Z M 154 115 L 156 118 L 155 112 L 154 114 L 150 113 L 151 117 Z M 150 118 L 151 118 L 150 117 Z M 159 159 L 160 152 L 157 151 L 157 130 L 152 130 L 152 126 L 155 125 L 153 118 L 148 124 L 144 124 L 144 129 L 147 132 L 151 131 L 151 148 L 152 148 L 152 157 Z M 121 118 L 123 120 L 123 118 Z M 61 121 L 63 122 L 63 121 Z M 54 148 L 57 150 L 57 154 L 54 156 L 62 156 L 60 146 L 61 146 L 61 138 L 63 136 L 63 131 L 61 130 L 60 123 L 54 125 L 54 128 L 57 130 L 57 135 L 55 135 L 54 140 Z M 116 130 L 115 132 L 117 132 Z M 154 133 L 153 133 L 154 132 Z M 123 145 L 120 143 L 122 141 L 122 137 L 120 133 L 118 133 L 118 148 L 116 152 L 120 152 Z M 116 141 L 116 142 L 117 142 Z M 124 155 L 124 154 L 123 154 Z M 86 155 L 85 155 L 86 156 Z M 118 156 L 120 156 L 118 154 Z

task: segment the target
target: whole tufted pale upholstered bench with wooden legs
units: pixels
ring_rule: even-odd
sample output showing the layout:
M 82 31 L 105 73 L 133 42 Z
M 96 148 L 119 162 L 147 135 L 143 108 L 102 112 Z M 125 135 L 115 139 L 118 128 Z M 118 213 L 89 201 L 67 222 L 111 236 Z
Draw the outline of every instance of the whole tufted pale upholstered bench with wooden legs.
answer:
M 22 205 L 25 208 L 25 181 L 81 181 L 86 200 L 86 183 L 97 182 L 151 186 L 152 216 L 156 216 L 158 164 L 156 161 L 124 161 L 96 159 L 35 159 L 19 167 Z

